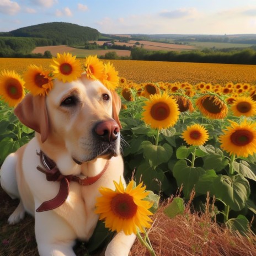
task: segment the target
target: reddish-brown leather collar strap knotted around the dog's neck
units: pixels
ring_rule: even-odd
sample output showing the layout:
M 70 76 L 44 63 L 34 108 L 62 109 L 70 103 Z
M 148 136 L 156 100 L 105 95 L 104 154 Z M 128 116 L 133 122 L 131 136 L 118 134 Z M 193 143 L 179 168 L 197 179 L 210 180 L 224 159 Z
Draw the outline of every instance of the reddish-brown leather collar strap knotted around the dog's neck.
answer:
M 57 207 L 61 206 L 67 199 L 68 194 L 70 192 L 70 182 L 77 182 L 79 185 L 82 186 L 88 186 L 91 185 L 97 180 L 99 180 L 100 177 L 105 173 L 106 169 L 109 166 L 109 160 L 106 161 L 106 164 L 98 175 L 94 177 L 87 177 L 84 179 L 81 179 L 77 176 L 73 175 L 62 175 L 58 167 L 56 166 L 56 163 L 52 161 L 49 157 L 46 156 L 46 154 L 42 151 L 40 151 L 39 157 L 40 162 L 42 166 L 45 168 L 42 168 L 40 166 L 36 167 L 36 169 L 40 170 L 40 172 L 44 173 L 46 175 L 46 179 L 50 182 L 60 182 L 60 189 L 58 190 L 58 194 L 55 196 L 55 198 L 43 202 L 38 209 L 36 209 L 36 212 L 42 212 L 42 211 L 49 211 L 56 209 Z

